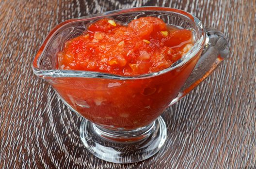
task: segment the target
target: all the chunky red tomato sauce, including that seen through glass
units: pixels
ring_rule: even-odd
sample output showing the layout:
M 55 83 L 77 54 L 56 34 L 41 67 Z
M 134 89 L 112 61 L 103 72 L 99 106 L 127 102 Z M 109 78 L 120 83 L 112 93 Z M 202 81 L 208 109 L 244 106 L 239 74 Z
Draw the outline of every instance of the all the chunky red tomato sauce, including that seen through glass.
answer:
M 192 31 L 167 26 L 156 17 L 128 25 L 104 18 L 70 39 L 58 53 L 63 70 L 88 70 L 133 76 L 170 67 L 193 45 Z M 59 77 L 56 92 L 86 119 L 125 130 L 153 122 L 177 96 L 202 50 L 182 66 L 141 79 Z

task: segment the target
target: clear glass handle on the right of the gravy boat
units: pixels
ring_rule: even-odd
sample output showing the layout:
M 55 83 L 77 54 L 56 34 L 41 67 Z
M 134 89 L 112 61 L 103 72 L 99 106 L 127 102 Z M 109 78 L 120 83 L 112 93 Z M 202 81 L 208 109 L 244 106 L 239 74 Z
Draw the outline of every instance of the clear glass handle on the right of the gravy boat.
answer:
M 169 106 L 186 96 L 190 91 L 192 91 L 192 89 L 205 80 L 225 58 L 228 57 L 229 43 L 225 35 L 215 28 L 206 28 L 206 32 L 206 44 L 202 55 L 187 81 L 182 86 L 178 96 L 170 103 Z

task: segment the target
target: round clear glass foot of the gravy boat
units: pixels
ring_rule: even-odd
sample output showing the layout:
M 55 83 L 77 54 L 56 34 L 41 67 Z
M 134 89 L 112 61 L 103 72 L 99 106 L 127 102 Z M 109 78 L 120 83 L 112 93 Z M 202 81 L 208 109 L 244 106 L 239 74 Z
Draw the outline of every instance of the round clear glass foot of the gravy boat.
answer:
M 132 131 L 113 131 L 83 119 L 80 138 L 96 157 L 112 163 L 134 163 L 155 155 L 166 140 L 166 126 L 159 116 L 152 124 Z

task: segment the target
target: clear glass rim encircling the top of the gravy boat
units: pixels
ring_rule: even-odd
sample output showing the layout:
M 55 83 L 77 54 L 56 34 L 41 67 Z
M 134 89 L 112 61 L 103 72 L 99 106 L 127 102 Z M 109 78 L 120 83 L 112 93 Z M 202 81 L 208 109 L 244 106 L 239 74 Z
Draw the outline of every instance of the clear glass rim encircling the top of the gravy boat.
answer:
M 105 72 L 98 72 L 98 71 L 86 71 L 86 70 L 41 70 L 38 67 L 38 63 L 41 61 L 41 57 L 44 52 L 46 51 L 48 47 L 48 43 L 50 40 L 54 37 L 54 35 L 63 28 L 66 24 L 69 23 L 75 23 L 80 21 L 86 21 L 86 20 L 92 20 L 104 17 L 111 17 L 116 14 L 124 14 L 129 12 L 138 12 L 138 11 L 167 11 L 167 12 L 173 12 L 177 14 L 184 15 L 188 17 L 190 20 L 192 20 L 195 23 L 196 28 L 202 31 L 202 35 L 195 41 L 192 48 L 187 52 L 184 56 L 182 56 L 179 60 L 177 60 L 175 63 L 173 63 L 170 67 L 157 71 L 152 73 L 145 73 L 145 74 L 139 74 L 139 75 L 133 75 L 133 76 L 122 76 L 122 75 L 116 75 L 111 73 L 105 73 Z M 64 22 L 58 24 L 54 28 L 50 30 L 47 37 L 45 38 L 43 44 L 40 46 L 37 54 L 35 55 L 33 59 L 32 69 L 35 75 L 45 78 L 45 77 L 81 77 L 81 78 L 106 78 L 106 79 L 117 79 L 117 80 L 128 80 L 128 79 L 144 79 L 149 77 L 158 76 L 160 74 L 164 74 L 168 71 L 177 69 L 184 64 L 186 64 L 189 60 L 191 60 L 196 54 L 200 51 L 202 47 L 204 47 L 204 43 L 206 40 L 206 30 L 204 26 L 202 25 L 202 22 L 195 17 L 194 15 L 180 10 L 176 8 L 167 8 L 167 7 L 135 7 L 135 8 L 127 8 L 127 9 L 120 9 L 120 10 L 114 10 L 109 12 L 104 12 L 100 14 L 93 14 L 93 15 L 87 15 L 82 16 L 74 19 L 68 19 Z

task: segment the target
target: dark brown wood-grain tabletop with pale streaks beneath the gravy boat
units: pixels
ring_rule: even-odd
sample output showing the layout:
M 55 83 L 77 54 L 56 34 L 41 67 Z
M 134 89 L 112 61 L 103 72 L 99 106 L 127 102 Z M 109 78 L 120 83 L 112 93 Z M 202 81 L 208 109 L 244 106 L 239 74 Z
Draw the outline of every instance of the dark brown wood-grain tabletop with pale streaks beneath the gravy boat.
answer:
M 224 32 L 230 58 L 163 114 L 161 151 L 134 164 L 85 150 L 81 118 L 32 72 L 32 59 L 58 23 L 135 6 L 186 10 Z M 0 169 L 181 169 L 256 167 L 255 0 L 1 0 Z

